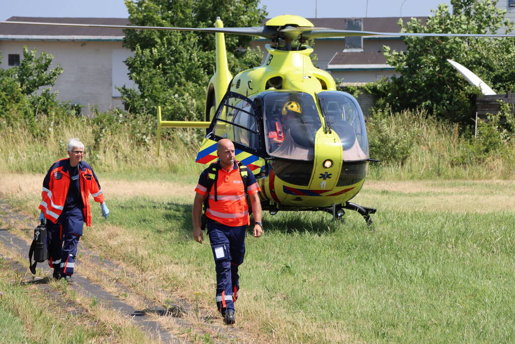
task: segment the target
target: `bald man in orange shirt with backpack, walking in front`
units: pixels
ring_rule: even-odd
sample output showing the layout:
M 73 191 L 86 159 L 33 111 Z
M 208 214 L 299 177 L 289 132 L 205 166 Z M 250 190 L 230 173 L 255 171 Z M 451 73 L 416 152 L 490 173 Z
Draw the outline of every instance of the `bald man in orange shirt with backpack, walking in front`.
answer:
M 247 166 L 235 160 L 234 144 L 222 139 L 218 162 L 200 175 L 193 202 L 193 237 L 202 244 L 202 203 L 216 267 L 216 304 L 226 324 L 233 324 L 239 290 L 238 267 L 245 255 L 245 232 L 250 224 L 247 195 L 254 215 L 254 237 L 263 234 L 260 188 Z M 205 216 L 205 217 L 204 217 Z

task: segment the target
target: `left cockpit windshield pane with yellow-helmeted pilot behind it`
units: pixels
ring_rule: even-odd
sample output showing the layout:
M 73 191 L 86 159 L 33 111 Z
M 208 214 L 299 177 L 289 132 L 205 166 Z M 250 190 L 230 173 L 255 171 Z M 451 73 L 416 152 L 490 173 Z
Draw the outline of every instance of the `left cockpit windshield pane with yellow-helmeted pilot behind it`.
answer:
M 270 92 L 263 96 L 263 105 L 270 156 L 313 160 L 315 135 L 322 125 L 313 97 L 304 92 Z

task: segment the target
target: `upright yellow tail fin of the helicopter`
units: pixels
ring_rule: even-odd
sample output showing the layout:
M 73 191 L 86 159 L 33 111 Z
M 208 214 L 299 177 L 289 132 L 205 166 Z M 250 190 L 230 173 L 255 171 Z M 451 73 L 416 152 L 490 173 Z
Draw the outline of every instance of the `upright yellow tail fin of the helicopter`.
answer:
M 215 27 L 224 27 L 224 23 L 220 17 L 216 18 Z M 209 80 L 208 96 L 206 98 L 205 119 L 211 121 L 215 114 L 216 108 L 224 97 L 232 75 L 229 72 L 229 64 L 227 63 L 227 50 L 225 45 L 224 33 L 215 33 L 216 40 L 216 70 L 215 74 Z

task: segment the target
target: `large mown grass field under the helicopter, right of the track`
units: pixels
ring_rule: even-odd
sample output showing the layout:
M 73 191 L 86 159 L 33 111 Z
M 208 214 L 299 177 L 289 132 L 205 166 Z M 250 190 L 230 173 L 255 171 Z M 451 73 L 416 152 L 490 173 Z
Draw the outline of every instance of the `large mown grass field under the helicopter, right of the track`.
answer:
M 36 218 L 42 178 L 3 174 L 2 197 Z M 93 208 L 82 245 L 130 266 L 113 279 L 137 293 L 214 310 L 212 253 L 191 236 L 196 176 L 99 178 L 111 215 Z M 367 181 L 354 201 L 377 208 L 373 228 L 351 212 L 266 214 L 247 238 L 236 325 L 249 341 L 515 340 L 515 181 Z

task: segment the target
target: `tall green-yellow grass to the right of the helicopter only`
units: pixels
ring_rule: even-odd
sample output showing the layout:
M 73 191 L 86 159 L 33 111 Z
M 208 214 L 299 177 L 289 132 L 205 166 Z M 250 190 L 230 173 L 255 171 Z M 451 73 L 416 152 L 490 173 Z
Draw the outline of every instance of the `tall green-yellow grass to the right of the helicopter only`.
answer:
M 376 114 L 367 129 L 371 158 L 380 160 L 371 164 L 370 176 L 375 179 L 515 177 L 513 140 L 500 137 L 494 146 L 424 111 Z

